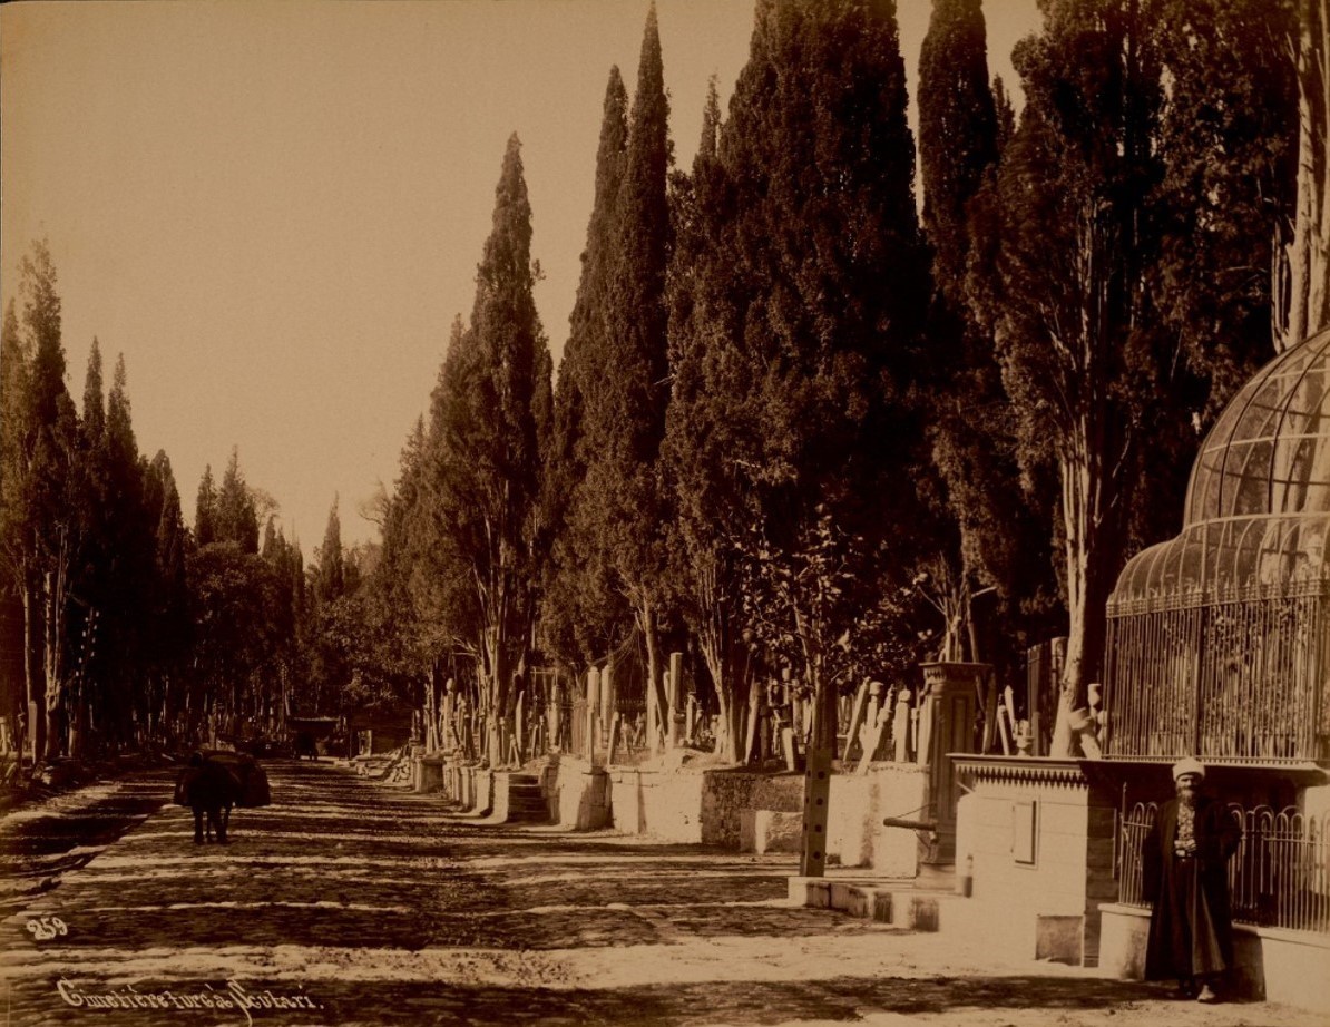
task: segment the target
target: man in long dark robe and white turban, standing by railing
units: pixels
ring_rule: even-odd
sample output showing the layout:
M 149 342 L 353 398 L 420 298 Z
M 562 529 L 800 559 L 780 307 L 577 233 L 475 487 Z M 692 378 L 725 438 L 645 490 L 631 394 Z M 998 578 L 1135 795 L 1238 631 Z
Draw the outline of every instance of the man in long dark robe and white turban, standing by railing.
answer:
M 1182 998 L 1218 1002 L 1218 978 L 1233 966 L 1228 862 L 1242 830 L 1222 802 L 1200 794 L 1204 778 L 1197 760 L 1173 765 L 1177 796 L 1142 845 L 1145 898 L 1154 905 L 1145 979 L 1176 978 Z

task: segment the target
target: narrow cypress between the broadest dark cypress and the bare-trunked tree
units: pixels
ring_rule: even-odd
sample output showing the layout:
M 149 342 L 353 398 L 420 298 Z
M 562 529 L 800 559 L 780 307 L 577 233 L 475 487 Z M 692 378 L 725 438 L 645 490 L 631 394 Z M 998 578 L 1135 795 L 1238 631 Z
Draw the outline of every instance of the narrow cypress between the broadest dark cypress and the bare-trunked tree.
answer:
M 923 588 L 944 615 L 940 656 L 950 660 L 1012 657 L 1016 609 L 1052 577 L 1045 525 L 1028 515 L 1037 496 L 1020 487 L 1013 411 L 991 325 L 967 290 L 970 205 L 996 172 L 1001 98 L 1000 82 L 988 85 L 979 0 L 934 0 L 919 56 L 919 165 L 934 291 L 918 402 L 939 478 L 931 498 L 940 555 L 926 561 L 931 580 Z M 1039 567 L 1048 569 L 1039 575 Z M 999 591 L 1005 623 L 991 637 L 1011 640 L 1008 652 L 975 652 L 980 633 L 971 596 L 980 585 Z

